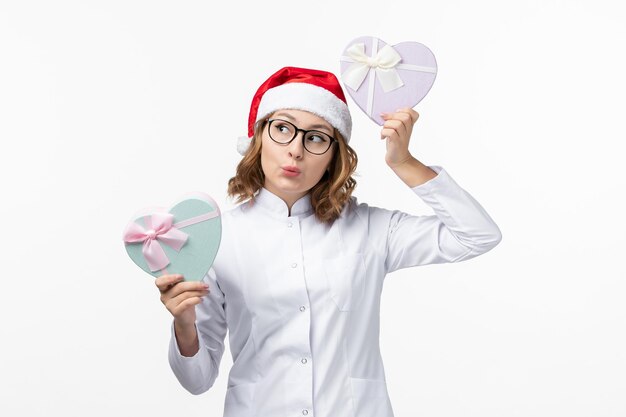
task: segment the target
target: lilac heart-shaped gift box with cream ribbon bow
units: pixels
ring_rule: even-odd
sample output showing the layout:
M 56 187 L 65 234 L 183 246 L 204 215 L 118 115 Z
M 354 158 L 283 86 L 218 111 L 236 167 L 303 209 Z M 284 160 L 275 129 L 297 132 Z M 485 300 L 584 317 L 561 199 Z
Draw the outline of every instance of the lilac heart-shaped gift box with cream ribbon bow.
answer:
M 341 81 L 354 102 L 379 125 L 381 113 L 415 107 L 437 76 L 437 61 L 419 42 L 387 45 L 372 36 L 354 39 L 340 59 Z

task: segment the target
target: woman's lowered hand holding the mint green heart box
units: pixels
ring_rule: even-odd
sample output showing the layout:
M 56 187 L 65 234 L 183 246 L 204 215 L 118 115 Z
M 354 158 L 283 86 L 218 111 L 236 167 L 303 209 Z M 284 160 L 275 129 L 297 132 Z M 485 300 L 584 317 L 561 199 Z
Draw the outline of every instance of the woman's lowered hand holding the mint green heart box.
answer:
M 161 293 L 161 302 L 174 316 L 181 328 L 193 327 L 196 321 L 195 306 L 209 294 L 209 286 L 203 282 L 184 282 L 180 274 L 161 275 L 155 280 Z

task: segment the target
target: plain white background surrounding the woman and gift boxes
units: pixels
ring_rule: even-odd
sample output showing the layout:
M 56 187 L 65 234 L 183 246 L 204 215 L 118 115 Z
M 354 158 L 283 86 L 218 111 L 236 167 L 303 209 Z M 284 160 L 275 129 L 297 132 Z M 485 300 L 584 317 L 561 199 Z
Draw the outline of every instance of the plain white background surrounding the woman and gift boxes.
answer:
M 209 392 L 178 384 L 171 316 L 122 230 L 188 191 L 233 207 L 256 88 L 285 65 L 337 73 L 371 35 L 434 52 L 411 151 L 503 233 L 479 258 L 387 277 L 396 415 L 623 417 L 621 4 L 2 1 L 0 415 L 221 415 L 228 345 Z M 348 100 L 355 195 L 431 214 Z

